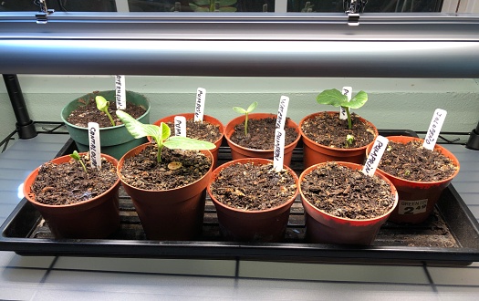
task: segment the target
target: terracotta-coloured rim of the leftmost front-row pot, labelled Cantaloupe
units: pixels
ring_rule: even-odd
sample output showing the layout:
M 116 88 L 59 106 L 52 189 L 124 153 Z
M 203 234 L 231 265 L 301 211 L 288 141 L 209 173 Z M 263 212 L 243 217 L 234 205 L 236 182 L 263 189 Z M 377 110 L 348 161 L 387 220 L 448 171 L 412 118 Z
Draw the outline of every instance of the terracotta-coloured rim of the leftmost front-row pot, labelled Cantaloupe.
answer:
M 79 155 L 84 155 L 86 154 L 87 152 L 80 152 Z M 111 157 L 107 154 L 104 154 L 104 153 L 101 153 L 100 154 L 101 157 L 107 159 L 110 163 L 112 163 L 114 166 L 115 166 L 115 169 L 117 168 L 118 166 L 118 163 L 119 161 L 116 160 L 114 157 Z M 49 162 L 54 162 L 56 163 L 57 161 L 64 161 L 65 159 L 69 159 L 69 155 L 64 155 L 64 156 L 61 156 L 61 157 L 57 157 L 55 159 L 52 159 L 50 160 Z M 68 160 L 69 161 L 69 160 Z M 41 166 L 41 165 L 40 165 Z M 117 186 L 120 185 L 120 178 L 118 177 L 118 174 L 117 174 L 117 181 L 115 181 L 110 187 L 108 190 L 106 190 L 105 192 L 102 192 L 101 194 L 97 195 L 96 197 L 94 198 L 91 198 L 87 201 L 83 201 L 83 202 L 76 202 L 76 203 L 70 203 L 70 204 L 65 204 L 65 205 L 51 205 L 51 204 L 47 204 L 47 203 L 43 203 L 43 202 L 37 202 L 34 198 L 31 198 L 30 195 L 31 194 L 34 194 L 35 193 L 32 193 L 31 192 L 31 189 L 30 187 L 27 187 L 25 185 L 25 183 L 32 179 L 32 182 L 35 181 L 35 178 L 36 178 L 36 175 L 38 174 L 38 170 L 40 169 L 40 166 L 38 166 L 34 171 L 30 172 L 30 174 L 28 174 L 28 176 L 26 177 L 26 180 L 24 181 L 24 187 L 23 187 L 23 192 L 24 192 L 24 196 L 25 198 L 28 200 L 28 202 L 32 202 L 33 204 L 37 205 L 37 206 L 41 206 L 41 207 L 44 207 L 44 208 L 70 208 L 70 207 L 75 207 L 75 206 L 79 206 L 79 205 L 85 205 L 85 204 L 89 204 L 90 202 L 94 202 L 96 201 L 97 199 L 105 196 L 106 194 L 110 193 L 112 190 L 114 190 Z

